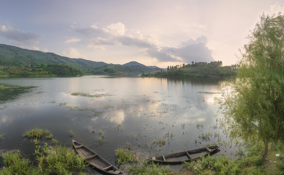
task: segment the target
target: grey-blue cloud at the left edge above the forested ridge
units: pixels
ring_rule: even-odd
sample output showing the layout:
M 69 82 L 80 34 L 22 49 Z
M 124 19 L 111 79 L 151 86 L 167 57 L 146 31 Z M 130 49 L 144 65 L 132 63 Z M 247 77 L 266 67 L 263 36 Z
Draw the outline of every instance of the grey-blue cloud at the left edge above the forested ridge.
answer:
M 39 35 L 20 31 L 19 29 L 14 29 L 12 26 L 0 24 L 0 34 L 16 45 L 35 47 L 35 45 L 39 44 Z

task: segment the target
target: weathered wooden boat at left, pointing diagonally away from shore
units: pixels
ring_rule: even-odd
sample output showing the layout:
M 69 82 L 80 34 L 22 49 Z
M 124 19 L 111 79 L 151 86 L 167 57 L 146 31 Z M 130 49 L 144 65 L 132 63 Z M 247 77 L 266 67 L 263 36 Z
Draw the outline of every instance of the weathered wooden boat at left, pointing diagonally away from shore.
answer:
M 89 164 L 93 165 L 99 171 L 108 175 L 125 175 L 117 167 L 110 164 L 108 161 L 94 153 L 92 150 L 79 143 L 78 141 L 72 140 L 75 150 L 80 156 L 82 156 Z

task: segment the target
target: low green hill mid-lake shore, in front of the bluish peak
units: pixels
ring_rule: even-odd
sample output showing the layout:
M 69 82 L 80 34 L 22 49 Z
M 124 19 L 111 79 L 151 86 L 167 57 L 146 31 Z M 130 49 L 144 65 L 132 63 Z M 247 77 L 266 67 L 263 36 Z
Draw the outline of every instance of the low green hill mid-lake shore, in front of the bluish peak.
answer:
M 141 73 L 157 72 L 161 71 L 160 68 L 149 68 L 146 66 L 125 66 L 106 64 L 100 67 L 96 67 L 89 71 L 94 75 L 112 75 L 112 76 L 127 76 L 138 75 Z

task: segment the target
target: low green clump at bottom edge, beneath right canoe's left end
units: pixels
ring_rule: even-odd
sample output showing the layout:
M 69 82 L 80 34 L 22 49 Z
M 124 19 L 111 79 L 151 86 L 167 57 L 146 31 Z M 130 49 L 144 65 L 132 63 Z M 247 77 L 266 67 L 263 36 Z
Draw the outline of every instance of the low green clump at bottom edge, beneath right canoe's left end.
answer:
M 159 166 L 159 164 L 154 164 L 153 162 L 150 165 L 146 160 L 143 160 L 142 165 L 137 163 L 129 167 L 129 172 L 131 175 L 171 175 L 168 171 L 168 166 L 163 167 Z

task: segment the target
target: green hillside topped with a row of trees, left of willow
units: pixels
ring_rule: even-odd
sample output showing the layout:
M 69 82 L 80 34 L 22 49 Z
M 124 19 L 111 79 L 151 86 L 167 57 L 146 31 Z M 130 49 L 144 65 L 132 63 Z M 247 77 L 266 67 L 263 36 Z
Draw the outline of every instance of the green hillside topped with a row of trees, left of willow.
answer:
M 141 74 L 142 77 L 228 77 L 237 75 L 237 66 L 222 66 L 222 61 L 195 62 L 167 67 L 167 71 Z

